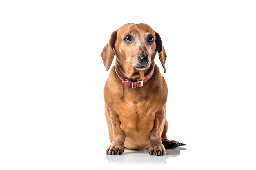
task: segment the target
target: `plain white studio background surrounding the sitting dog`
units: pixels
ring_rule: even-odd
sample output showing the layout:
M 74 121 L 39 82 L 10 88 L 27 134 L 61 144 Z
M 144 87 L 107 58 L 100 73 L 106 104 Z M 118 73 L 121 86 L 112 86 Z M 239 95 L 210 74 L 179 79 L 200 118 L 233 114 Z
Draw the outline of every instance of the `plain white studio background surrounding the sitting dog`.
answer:
M 127 167 L 105 155 L 100 54 L 128 22 L 166 49 L 168 139 L 187 144 L 168 168 L 255 169 L 253 2 L 1 1 L 0 169 Z

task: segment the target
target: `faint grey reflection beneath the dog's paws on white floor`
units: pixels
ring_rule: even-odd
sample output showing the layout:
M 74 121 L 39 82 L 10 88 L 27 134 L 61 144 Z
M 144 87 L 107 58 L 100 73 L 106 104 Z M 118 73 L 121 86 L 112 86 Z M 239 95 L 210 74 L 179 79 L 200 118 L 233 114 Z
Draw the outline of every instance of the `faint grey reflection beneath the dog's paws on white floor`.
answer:
M 166 155 L 153 156 L 149 155 L 148 149 L 129 150 L 126 148 L 122 155 L 106 155 L 106 159 L 109 164 L 166 164 L 166 159 L 179 156 L 180 150 L 186 150 L 186 148 L 166 149 Z

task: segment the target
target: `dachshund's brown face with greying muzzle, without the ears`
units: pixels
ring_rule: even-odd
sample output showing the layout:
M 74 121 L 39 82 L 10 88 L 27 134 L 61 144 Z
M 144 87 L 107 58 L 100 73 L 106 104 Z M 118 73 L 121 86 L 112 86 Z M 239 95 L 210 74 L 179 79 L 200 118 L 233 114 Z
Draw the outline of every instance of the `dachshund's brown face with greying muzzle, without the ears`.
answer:
M 156 54 L 155 31 L 146 24 L 126 24 L 117 30 L 116 59 L 125 60 L 137 70 L 150 67 Z

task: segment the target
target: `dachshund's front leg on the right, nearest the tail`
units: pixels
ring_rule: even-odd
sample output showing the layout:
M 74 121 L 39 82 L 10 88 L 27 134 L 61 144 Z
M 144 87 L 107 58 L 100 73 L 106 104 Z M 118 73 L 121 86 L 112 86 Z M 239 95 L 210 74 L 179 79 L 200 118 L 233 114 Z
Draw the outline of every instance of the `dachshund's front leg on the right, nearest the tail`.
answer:
M 161 127 L 164 121 L 164 116 L 161 113 L 155 115 L 154 127 L 150 132 L 149 139 L 149 154 L 150 155 L 165 155 L 165 148 L 161 140 Z

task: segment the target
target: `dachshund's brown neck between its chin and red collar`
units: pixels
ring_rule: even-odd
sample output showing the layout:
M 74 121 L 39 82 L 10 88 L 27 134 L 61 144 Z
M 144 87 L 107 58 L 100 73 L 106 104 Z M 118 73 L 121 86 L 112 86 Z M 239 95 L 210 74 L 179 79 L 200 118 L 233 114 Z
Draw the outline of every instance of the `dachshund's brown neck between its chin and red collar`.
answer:
M 118 63 L 115 64 L 115 67 L 118 73 L 125 79 L 131 81 L 140 81 L 146 79 L 153 71 L 155 63 L 152 63 L 151 66 L 145 70 L 137 70 L 134 67 L 126 67 L 128 69 L 124 70 L 123 67 L 119 66 Z

